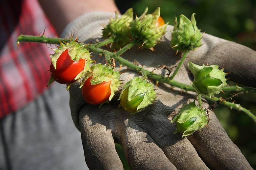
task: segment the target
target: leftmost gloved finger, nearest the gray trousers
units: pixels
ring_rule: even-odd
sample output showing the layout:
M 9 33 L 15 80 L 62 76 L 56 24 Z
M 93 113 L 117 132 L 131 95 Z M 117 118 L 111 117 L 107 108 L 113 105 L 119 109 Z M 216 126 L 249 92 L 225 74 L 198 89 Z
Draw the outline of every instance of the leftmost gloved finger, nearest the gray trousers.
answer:
M 102 116 L 83 107 L 79 115 L 79 128 L 89 169 L 123 169 L 111 130 Z

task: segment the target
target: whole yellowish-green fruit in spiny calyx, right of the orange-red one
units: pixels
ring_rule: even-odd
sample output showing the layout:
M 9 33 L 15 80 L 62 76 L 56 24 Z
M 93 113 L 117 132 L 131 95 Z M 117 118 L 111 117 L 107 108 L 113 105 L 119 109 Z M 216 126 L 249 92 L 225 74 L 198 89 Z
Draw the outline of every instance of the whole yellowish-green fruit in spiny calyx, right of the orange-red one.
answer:
M 155 99 L 154 84 L 147 82 L 142 77 L 134 77 L 124 84 L 119 97 L 119 107 L 122 106 L 124 110 L 136 113 L 152 104 Z

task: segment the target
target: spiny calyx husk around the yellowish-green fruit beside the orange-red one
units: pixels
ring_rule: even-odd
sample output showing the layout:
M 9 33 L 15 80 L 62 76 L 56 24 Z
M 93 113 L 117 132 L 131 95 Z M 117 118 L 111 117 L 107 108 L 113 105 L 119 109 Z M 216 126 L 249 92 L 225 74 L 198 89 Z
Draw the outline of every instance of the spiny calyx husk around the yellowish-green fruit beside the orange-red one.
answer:
M 133 99 L 137 98 L 140 101 L 134 101 L 134 103 L 128 104 L 135 104 L 137 108 L 137 112 L 143 110 L 148 105 L 152 104 L 153 101 L 156 99 L 156 92 L 154 91 L 154 84 L 149 83 L 144 78 L 134 77 L 130 81 L 124 84 L 124 87 L 121 91 L 119 96 L 119 100 L 122 98 L 124 91 L 128 89 L 127 100 L 132 101 Z M 121 103 L 119 107 L 121 106 Z M 134 106 L 134 105 L 133 105 Z M 125 109 L 125 108 L 124 108 Z M 135 111 L 135 112 L 136 112 Z

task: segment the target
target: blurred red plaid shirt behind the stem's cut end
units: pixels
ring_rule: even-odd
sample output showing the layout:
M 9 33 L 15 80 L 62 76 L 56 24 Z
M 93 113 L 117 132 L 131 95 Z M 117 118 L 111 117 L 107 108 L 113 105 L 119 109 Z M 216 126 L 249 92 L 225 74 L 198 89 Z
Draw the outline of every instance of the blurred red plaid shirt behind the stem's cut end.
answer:
M 20 43 L 20 34 L 55 37 L 36 0 L 0 2 L 0 118 L 15 112 L 46 89 L 52 50 L 40 43 Z

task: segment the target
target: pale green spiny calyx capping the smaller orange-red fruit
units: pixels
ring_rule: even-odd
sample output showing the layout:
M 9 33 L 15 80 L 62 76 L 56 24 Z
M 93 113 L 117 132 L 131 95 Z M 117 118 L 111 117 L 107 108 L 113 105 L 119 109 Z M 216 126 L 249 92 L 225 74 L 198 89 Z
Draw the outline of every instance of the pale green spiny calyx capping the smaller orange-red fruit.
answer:
M 102 83 L 103 81 L 111 81 L 110 83 L 110 90 L 111 95 L 109 96 L 109 101 L 113 98 L 115 95 L 115 92 L 118 90 L 118 87 L 120 86 L 120 80 L 119 80 L 119 72 L 114 71 L 113 68 L 102 65 L 101 63 L 95 64 L 91 67 L 91 71 L 86 74 L 83 81 L 81 82 L 80 88 L 84 85 L 84 82 L 92 76 L 91 84 L 96 85 L 99 83 Z

